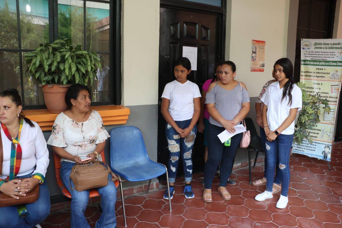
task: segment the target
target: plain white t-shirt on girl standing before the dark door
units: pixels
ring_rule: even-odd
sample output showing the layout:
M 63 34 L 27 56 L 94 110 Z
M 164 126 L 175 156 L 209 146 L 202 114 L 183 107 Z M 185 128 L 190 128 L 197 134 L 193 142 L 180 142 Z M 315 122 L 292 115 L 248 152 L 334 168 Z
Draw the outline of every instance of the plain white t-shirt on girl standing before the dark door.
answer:
M 162 98 L 170 100 L 169 112 L 174 121 L 189 120 L 194 115 L 194 98 L 201 97 L 197 84 L 174 80 L 165 85 Z

